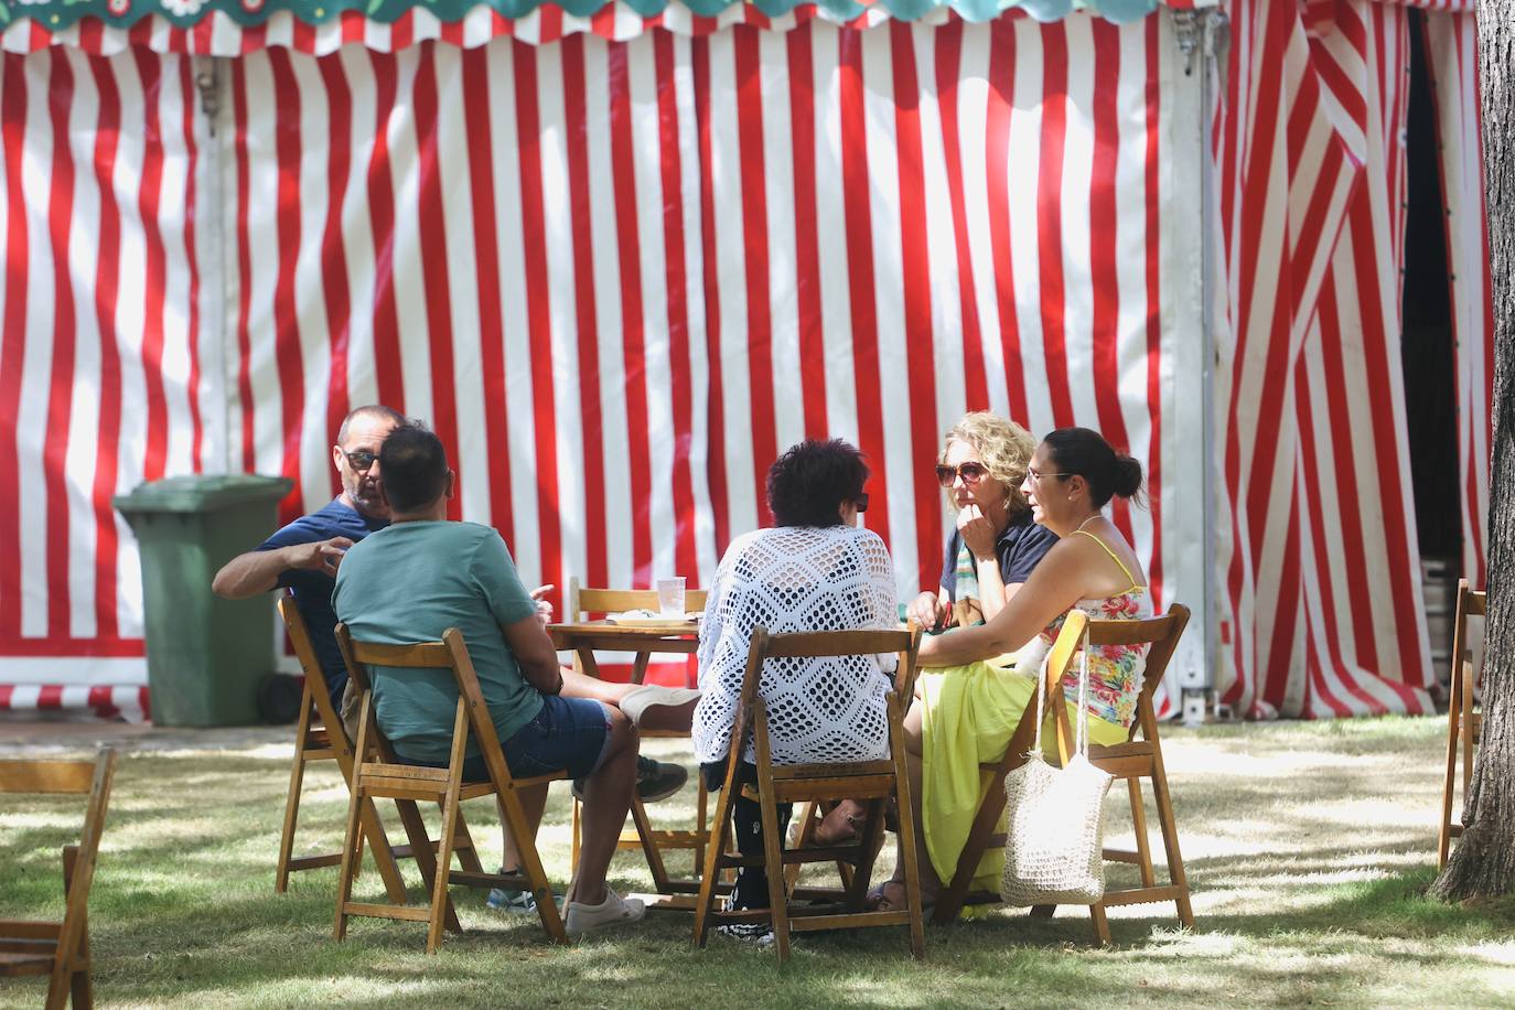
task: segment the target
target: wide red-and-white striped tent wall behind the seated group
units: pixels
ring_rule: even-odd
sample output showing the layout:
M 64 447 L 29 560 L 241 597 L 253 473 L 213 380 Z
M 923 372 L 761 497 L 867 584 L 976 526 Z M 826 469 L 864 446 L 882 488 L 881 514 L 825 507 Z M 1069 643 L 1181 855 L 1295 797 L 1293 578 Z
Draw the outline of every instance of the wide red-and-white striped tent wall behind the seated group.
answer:
M 0 551 L 21 603 L 0 653 L 115 677 L 94 657 L 139 657 L 141 615 L 109 495 L 253 469 L 297 480 L 289 518 L 330 497 L 335 422 L 376 400 L 451 448 L 454 515 L 559 586 L 708 580 L 765 521 L 777 451 L 836 435 L 868 454 L 867 521 L 912 594 L 938 575 L 932 465 L 965 409 L 1086 424 L 1147 462 L 1150 510 L 1115 519 L 1174 598 L 1167 18 L 624 20 L 530 41 L 420 39 L 421 11 L 150 26 L 112 56 L 80 51 L 120 44 L 88 23 L 70 45 L 5 35 L 0 235 L 26 254 L 0 424 L 48 422 L 17 429 L 0 547 L 29 554 Z M 200 91 L 183 53 L 223 47 L 245 55 Z M 206 104 L 214 141 L 188 129 Z M 141 179 L 124 203 L 121 176 Z M 197 268 L 214 257 L 224 274 Z

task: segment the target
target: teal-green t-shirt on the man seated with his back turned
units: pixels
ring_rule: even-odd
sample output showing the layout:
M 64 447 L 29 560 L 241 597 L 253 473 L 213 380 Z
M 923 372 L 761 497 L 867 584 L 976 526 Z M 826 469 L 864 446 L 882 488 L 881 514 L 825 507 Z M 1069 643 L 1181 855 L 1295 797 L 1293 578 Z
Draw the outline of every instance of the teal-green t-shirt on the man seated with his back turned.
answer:
M 398 522 L 368 535 L 342 557 L 332 606 L 359 642 L 411 645 L 462 631 L 501 742 L 542 709 L 501 630 L 536 613 L 536 604 L 504 541 L 486 525 Z M 414 762 L 445 762 L 458 715 L 451 671 L 374 666 L 370 680 L 394 750 Z M 468 754 L 477 753 L 470 739 Z

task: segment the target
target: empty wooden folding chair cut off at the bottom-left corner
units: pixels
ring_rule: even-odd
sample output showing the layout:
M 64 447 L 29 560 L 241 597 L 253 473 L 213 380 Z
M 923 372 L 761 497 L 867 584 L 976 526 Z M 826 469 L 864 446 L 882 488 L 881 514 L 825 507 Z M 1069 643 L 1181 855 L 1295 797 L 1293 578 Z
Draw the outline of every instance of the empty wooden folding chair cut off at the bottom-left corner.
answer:
M 47 1010 L 73 995 L 76 1010 L 94 1005 L 89 984 L 89 884 L 94 881 L 105 810 L 115 777 L 115 751 L 92 762 L 0 760 L 0 793 L 89 795 L 79 845 L 64 846 L 64 921 L 0 921 L 0 975 L 50 975 Z

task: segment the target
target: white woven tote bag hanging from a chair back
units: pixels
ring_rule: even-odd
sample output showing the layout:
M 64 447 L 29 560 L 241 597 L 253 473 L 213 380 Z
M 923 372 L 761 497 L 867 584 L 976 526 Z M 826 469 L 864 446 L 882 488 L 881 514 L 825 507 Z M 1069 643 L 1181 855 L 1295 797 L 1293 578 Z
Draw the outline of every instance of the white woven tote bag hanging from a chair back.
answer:
M 1036 743 L 1026 763 L 1004 775 L 1009 824 L 1000 896 L 1009 906 L 1092 906 L 1104 896 L 1104 796 L 1112 778 L 1089 763 L 1088 690 L 1085 631 L 1074 756 L 1065 768 L 1042 757 L 1044 660 L 1036 677 Z

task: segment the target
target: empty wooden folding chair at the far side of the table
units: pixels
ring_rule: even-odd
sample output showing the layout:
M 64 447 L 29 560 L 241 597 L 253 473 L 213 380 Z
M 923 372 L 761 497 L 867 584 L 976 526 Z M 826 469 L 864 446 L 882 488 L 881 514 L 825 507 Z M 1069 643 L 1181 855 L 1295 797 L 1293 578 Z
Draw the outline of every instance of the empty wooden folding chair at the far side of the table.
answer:
M 704 610 L 704 601 L 708 591 L 704 589 L 689 589 L 683 595 L 683 603 L 686 610 Z M 565 621 L 571 624 L 580 624 L 583 621 L 592 619 L 595 615 L 621 613 L 624 610 L 656 610 L 658 609 L 658 591 L 656 589 L 600 589 L 592 586 L 580 586 L 579 577 L 571 575 L 568 578 L 568 597 L 565 607 Z M 647 677 L 647 665 L 651 660 L 651 653 L 636 653 L 632 662 L 630 683 L 639 684 Z M 573 657 L 574 669 L 579 672 L 592 672 L 583 669 L 583 662 L 576 653 Z M 688 733 L 680 733 L 679 730 L 638 730 L 642 739 L 658 739 L 658 737 L 673 737 L 673 739 L 689 739 Z M 632 793 L 632 827 L 621 831 L 621 837 L 617 839 L 617 849 L 641 849 L 647 857 L 647 868 L 653 875 L 653 892 L 656 893 L 673 893 L 673 892 L 692 892 L 698 886 L 692 880 L 677 880 L 668 875 L 668 869 L 664 863 L 662 854 L 667 851 L 692 849 L 694 865 L 698 866 L 704 857 L 704 839 L 706 839 L 706 815 L 709 807 L 709 793 L 704 789 L 704 778 L 695 775 L 697 780 L 697 800 L 695 813 L 697 822 L 692 831 L 674 831 L 667 828 L 654 828 L 651 825 L 651 818 L 647 816 L 647 807 L 641 796 Z M 571 819 L 571 860 L 573 865 L 579 865 L 579 843 L 580 843 L 580 804 L 579 800 L 573 801 L 573 819 Z

